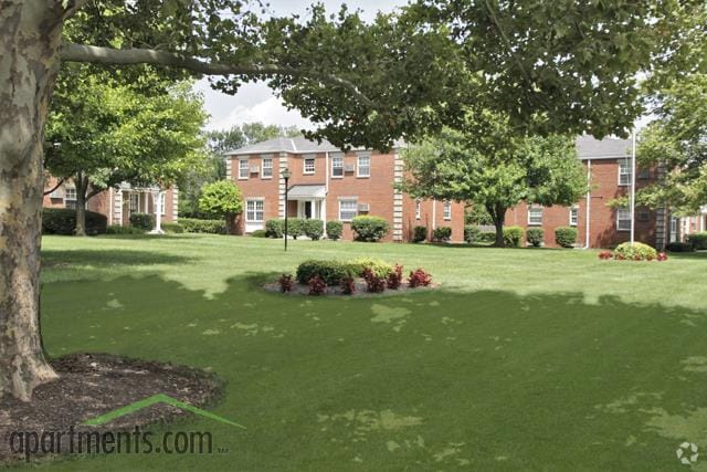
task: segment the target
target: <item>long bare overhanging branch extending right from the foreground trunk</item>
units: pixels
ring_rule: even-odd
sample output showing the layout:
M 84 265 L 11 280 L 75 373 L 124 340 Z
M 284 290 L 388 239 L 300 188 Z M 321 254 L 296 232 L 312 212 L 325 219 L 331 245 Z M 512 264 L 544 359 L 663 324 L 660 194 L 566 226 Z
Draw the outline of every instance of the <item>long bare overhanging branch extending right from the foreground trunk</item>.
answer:
M 67 62 L 87 62 L 106 65 L 155 64 L 168 67 L 186 69 L 204 75 L 292 75 L 316 78 L 348 90 L 358 101 L 368 107 L 374 107 L 373 101 L 361 93 L 351 82 L 317 71 L 306 71 L 276 64 L 226 64 L 207 62 L 190 55 L 152 49 L 113 49 L 85 44 L 65 43 L 61 49 L 61 59 Z

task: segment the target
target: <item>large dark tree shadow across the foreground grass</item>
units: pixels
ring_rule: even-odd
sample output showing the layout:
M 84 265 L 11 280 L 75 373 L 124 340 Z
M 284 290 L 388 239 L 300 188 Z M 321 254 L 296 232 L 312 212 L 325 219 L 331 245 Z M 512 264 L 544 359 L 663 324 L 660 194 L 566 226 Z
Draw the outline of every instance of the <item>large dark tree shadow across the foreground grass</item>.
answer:
M 706 311 L 581 292 L 293 297 L 260 287 L 274 275 L 231 279 L 210 297 L 160 276 L 49 283 L 45 345 L 224 378 L 219 413 L 249 428 L 236 438 L 249 453 L 180 458 L 194 466 L 331 469 L 359 457 L 370 469 L 645 470 L 675 466 L 685 440 L 707 447 Z M 379 417 L 389 422 L 368 422 Z

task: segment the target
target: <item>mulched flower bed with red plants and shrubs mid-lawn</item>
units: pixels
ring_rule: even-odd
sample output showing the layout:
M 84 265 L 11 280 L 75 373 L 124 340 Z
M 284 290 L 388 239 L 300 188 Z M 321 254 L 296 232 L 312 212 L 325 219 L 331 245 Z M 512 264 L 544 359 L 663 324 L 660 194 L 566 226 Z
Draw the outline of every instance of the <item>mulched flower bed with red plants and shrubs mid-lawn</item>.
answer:
M 277 282 L 265 284 L 271 292 L 299 295 L 358 295 L 386 291 L 409 291 L 437 286 L 432 275 L 419 268 L 403 275 L 403 266 L 389 264 L 379 259 L 352 261 L 305 261 L 297 266 L 296 274 L 282 274 Z

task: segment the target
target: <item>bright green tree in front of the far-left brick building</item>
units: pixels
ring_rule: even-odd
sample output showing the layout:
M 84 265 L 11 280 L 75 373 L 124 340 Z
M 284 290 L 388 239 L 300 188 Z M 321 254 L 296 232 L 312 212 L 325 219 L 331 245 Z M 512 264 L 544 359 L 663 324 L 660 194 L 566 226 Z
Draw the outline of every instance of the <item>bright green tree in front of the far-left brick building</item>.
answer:
M 86 202 L 99 192 L 124 181 L 165 188 L 199 168 L 207 157 L 207 114 L 189 83 L 146 92 L 66 69 L 45 129 L 51 146 L 44 165 L 76 186 L 75 233 L 85 235 Z

